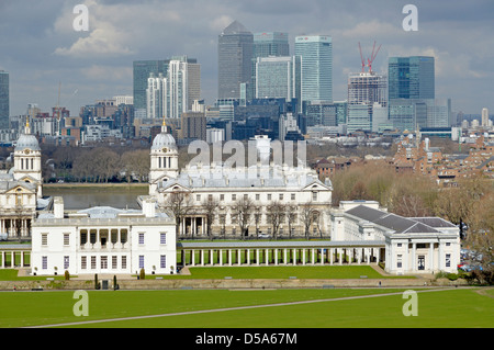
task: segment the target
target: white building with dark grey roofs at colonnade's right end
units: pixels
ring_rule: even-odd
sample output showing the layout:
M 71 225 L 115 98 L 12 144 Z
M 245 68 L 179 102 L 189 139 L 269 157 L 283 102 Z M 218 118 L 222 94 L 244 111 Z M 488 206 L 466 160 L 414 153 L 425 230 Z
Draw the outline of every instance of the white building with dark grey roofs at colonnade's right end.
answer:
M 383 241 L 385 271 L 393 274 L 456 273 L 460 263 L 460 232 L 456 225 L 439 217 L 388 213 L 372 201 L 340 202 L 332 213 L 332 240 Z

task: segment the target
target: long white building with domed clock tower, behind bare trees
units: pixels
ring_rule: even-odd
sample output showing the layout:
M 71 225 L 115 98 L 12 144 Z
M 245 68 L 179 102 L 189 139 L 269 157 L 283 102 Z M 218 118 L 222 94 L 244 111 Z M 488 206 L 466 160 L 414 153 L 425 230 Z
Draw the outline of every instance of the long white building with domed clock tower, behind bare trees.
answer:
M 273 145 L 266 136 L 257 136 L 252 142 L 258 157 L 254 166 L 229 167 L 227 162 L 210 162 L 206 156 L 179 170 L 175 138 L 164 126 L 150 149 L 149 195 L 157 199 L 158 207 L 162 210 L 170 207 L 173 193 L 187 196 L 183 205 L 188 206 L 188 211 L 179 228 L 183 236 L 206 235 L 207 218 L 213 221 L 213 235 L 239 236 L 239 216 L 243 214 L 237 208 L 240 201 L 247 200 L 250 201 L 250 210 L 248 227 L 244 233 L 246 236 L 259 233 L 304 235 L 308 230 L 311 235 L 327 237 L 333 191 L 330 181 L 323 183 L 304 161 L 299 161 L 297 166 L 270 162 Z M 205 150 L 210 149 L 206 143 L 203 146 Z M 205 201 L 217 204 L 213 215 L 205 211 Z M 285 211 L 280 215 L 279 225 L 272 223 L 274 204 L 281 204 Z M 307 212 L 311 217 L 307 217 Z M 307 222 L 308 225 L 305 225 Z

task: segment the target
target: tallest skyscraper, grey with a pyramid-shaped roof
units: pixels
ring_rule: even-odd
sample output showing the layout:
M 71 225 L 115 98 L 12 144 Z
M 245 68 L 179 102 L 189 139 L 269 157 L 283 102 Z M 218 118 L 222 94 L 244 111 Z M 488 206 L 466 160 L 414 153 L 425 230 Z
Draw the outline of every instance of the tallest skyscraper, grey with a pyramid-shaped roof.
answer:
M 234 21 L 218 35 L 218 99 L 240 98 L 240 84 L 250 83 L 252 57 L 252 33 L 238 21 Z

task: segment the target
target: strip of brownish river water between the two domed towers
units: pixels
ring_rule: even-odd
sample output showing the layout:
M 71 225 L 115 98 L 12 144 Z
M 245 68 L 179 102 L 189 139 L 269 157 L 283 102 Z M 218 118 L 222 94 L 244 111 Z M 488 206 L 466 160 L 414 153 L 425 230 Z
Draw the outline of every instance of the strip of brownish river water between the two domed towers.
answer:
M 137 196 L 148 194 L 147 187 L 43 187 L 43 196 L 61 196 L 66 210 L 83 210 L 91 206 L 141 208 Z

